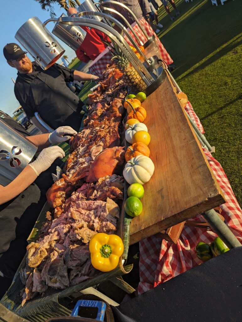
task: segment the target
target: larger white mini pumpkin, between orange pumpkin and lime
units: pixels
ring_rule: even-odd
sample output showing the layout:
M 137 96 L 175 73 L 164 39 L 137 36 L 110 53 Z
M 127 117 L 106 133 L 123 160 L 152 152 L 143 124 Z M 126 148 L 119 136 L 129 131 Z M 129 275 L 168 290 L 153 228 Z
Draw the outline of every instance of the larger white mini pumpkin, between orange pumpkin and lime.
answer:
M 130 185 L 132 183 L 144 185 L 149 181 L 154 170 L 154 163 L 148 156 L 136 156 L 126 163 L 123 176 Z

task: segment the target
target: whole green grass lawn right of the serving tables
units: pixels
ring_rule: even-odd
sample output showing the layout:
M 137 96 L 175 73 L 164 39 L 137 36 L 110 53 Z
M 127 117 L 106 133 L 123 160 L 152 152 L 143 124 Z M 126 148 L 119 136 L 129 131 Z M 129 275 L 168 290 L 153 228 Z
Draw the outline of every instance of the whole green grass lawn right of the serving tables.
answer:
M 229 0 L 218 7 L 210 0 L 175 3 L 180 15 L 174 21 L 161 7 L 159 22 L 164 27 L 158 36 L 174 60 L 177 83 L 215 146 L 213 156 L 242 204 L 242 1 Z

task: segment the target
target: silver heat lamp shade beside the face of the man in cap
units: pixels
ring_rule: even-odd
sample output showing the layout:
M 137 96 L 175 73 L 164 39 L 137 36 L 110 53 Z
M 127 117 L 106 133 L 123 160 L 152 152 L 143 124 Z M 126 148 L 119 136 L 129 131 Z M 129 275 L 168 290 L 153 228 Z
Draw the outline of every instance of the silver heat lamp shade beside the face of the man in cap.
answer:
M 53 65 L 65 52 L 38 17 L 27 20 L 16 32 L 15 39 L 43 70 Z

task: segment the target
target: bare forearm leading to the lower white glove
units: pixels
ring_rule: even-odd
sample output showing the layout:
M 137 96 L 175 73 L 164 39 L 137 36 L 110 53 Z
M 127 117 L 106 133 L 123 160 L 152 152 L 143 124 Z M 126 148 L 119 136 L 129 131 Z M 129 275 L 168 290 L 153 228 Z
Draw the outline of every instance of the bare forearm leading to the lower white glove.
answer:
M 37 178 L 34 170 L 26 166 L 23 171 L 9 185 L 0 185 L 0 204 L 5 204 L 21 194 Z

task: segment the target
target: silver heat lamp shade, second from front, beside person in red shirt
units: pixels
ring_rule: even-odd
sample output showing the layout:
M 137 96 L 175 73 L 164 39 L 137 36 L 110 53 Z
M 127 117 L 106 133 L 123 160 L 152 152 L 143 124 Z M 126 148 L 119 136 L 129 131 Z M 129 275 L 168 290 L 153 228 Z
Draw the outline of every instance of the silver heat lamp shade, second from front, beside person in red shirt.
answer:
M 61 17 L 67 17 L 67 15 L 62 14 Z M 59 22 L 55 24 L 52 33 L 75 51 L 82 44 L 86 36 L 85 30 L 81 27 L 61 24 Z

